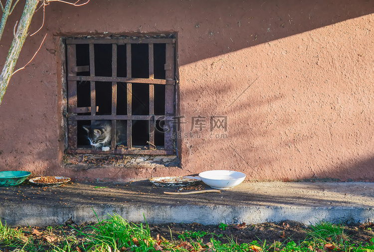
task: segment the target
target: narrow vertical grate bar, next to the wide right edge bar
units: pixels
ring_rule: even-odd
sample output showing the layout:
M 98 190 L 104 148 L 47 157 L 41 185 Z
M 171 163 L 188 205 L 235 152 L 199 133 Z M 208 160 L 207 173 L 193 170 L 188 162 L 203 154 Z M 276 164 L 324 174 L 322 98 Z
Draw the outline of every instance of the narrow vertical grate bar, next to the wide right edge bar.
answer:
M 154 67 L 154 47 L 153 43 L 148 44 L 148 59 L 149 59 L 149 78 L 155 78 Z M 149 120 L 149 148 L 153 149 L 155 146 L 155 85 L 149 85 L 149 114 L 153 115 Z

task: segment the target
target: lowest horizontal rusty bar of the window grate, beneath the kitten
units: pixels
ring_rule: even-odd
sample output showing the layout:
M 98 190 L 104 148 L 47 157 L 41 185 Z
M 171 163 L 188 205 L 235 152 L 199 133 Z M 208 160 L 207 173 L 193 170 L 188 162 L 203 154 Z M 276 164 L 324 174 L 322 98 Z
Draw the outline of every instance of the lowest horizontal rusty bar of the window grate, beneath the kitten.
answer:
M 135 146 L 136 147 L 136 146 Z M 138 155 L 173 155 L 173 150 L 165 149 L 115 149 L 102 151 L 100 149 L 68 148 L 67 154 L 138 154 Z

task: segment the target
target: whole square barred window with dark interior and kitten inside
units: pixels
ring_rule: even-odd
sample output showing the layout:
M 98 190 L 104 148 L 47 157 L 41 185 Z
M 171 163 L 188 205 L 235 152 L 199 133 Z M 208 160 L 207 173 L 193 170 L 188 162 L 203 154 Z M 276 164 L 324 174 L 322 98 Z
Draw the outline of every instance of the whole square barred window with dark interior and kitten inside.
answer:
M 174 154 L 175 43 L 66 39 L 66 153 Z

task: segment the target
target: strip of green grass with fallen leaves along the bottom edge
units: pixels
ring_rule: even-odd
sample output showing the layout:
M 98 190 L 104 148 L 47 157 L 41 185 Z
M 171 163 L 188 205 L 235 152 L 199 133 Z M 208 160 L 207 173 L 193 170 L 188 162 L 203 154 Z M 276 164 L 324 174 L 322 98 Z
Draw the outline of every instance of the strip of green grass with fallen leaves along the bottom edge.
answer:
M 219 226 L 221 229 L 227 225 Z M 178 239 L 166 240 L 152 238 L 147 223 L 129 223 L 117 214 L 98 219 L 98 223 L 85 230 L 65 233 L 63 227 L 48 227 L 44 235 L 59 231 L 62 239 L 48 243 L 36 239 L 21 229 L 10 228 L 0 222 L 0 251 L 9 252 L 156 252 L 160 248 L 170 252 L 215 251 L 215 252 L 374 252 L 374 238 L 369 243 L 355 244 L 344 234 L 344 227 L 329 222 L 319 222 L 308 228 L 304 241 L 288 239 L 284 243 L 253 241 L 249 244 L 238 243 L 234 238 L 218 239 L 204 231 L 186 231 Z M 210 236 L 210 242 L 202 244 L 202 238 Z M 188 240 L 188 241 L 187 241 Z M 330 249 L 324 249 L 329 244 Z M 210 249 L 209 249 L 210 248 Z M 330 251 L 329 251 L 330 250 Z

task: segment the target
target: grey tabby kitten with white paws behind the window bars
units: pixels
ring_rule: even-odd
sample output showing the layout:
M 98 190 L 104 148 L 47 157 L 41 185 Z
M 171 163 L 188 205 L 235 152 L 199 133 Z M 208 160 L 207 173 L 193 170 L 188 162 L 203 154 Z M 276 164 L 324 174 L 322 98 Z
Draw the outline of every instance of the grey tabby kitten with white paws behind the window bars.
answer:
M 123 121 L 116 122 L 116 144 L 127 145 L 127 126 Z M 90 126 L 83 126 L 87 131 L 87 138 L 92 146 L 103 151 L 110 150 L 112 140 L 112 122 L 110 120 L 96 120 Z

